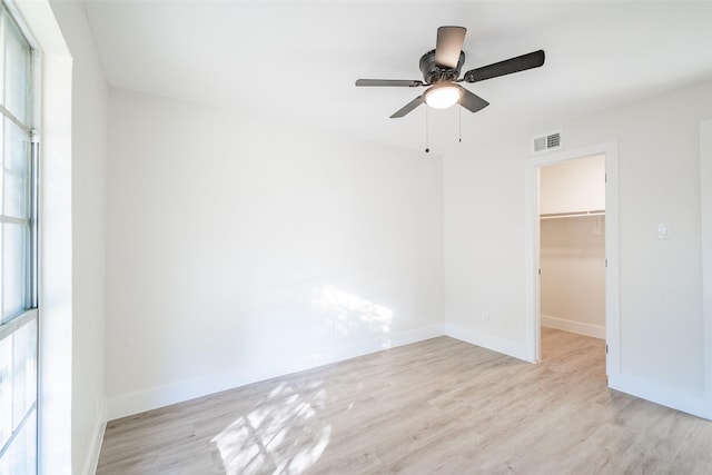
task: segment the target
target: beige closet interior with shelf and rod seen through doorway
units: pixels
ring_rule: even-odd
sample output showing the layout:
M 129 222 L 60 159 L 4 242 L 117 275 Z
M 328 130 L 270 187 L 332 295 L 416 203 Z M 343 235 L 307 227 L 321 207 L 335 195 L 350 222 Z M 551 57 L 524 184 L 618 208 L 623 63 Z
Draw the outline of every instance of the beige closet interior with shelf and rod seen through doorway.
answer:
M 544 327 L 605 337 L 605 156 L 540 168 Z

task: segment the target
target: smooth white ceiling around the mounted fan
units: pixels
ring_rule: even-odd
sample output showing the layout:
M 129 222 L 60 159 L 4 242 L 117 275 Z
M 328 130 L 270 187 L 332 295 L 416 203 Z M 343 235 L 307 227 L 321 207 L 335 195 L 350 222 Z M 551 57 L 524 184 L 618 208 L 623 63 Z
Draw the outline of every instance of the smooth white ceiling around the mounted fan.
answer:
M 538 69 L 467 85 L 491 102 L 462 112 L 464 142 L 632 102 L 712 78 L 712 1 L 121 1 L 85 3 L 108 82 L 408 149 L 436 29 L 467 28 L 463 72 L 544 49 Z M 710 98 L 712 100 L 712 98 Z M 457 141 L 457 108 L 428 112 L 434 150 Z M 551 130 L 540 130 L 542 133 Z

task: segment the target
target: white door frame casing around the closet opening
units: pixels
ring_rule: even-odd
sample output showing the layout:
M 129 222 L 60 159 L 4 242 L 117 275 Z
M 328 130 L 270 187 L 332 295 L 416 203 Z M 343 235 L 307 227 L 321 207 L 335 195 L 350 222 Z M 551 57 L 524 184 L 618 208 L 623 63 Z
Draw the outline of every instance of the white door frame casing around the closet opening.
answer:
M 525 345 L 527 359 L 541 359 L 541 289 L 540 289 L 540 168 L 595 155 L 605 156 L 605 339 L 606 374 L 611 379 L 620 373 L 619 315 L 619 155 L 617 142 L 610 141 L 571 150 L 531 157 L 525 169 Z

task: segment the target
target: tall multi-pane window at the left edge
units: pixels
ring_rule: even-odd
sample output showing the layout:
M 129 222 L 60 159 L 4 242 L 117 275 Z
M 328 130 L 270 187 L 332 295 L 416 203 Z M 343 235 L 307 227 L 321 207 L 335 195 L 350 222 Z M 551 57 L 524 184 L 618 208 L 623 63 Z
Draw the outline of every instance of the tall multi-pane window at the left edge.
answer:
M 37 473 L 32 49 L 0 4 L 0 473 Z

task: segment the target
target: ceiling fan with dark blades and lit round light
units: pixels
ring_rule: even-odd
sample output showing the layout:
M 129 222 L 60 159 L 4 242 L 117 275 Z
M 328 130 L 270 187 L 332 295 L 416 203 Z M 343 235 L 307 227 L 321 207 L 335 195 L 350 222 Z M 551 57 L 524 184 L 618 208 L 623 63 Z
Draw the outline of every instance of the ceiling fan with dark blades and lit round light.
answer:
M 421 57 L 422 81 L 417 79 L 358 79 L 356 86 L 411 88 L 428 86 L 423 95 L 390 116 L 392 119 L 404 117 L 423 102 L 436 109 L 445 109 L 458 102 L 471 112 L 476 112 L 490 106 L 490 102 L 463 88 L 458 82 L 484 81 L 544 65 L 544 51 L 538 50 L 471 69 L 459 78 L 459 70 L 465 63 L 465 53 L 462 49 L 466 32 L 467 29 L 463 27 L 439 27 L 437 29 L 435 49 Z

